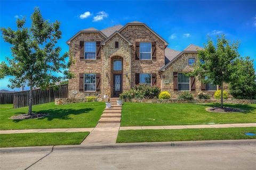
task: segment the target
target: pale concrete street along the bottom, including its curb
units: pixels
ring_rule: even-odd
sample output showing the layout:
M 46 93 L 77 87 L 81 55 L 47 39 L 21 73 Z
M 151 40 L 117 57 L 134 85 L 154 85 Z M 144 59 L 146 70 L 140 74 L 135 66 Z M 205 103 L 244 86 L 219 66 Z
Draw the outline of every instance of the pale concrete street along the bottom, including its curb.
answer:
M 256 168 L 256 140 L 1 148 L 0 154 L 1 169 Z

